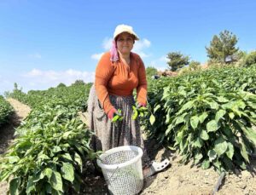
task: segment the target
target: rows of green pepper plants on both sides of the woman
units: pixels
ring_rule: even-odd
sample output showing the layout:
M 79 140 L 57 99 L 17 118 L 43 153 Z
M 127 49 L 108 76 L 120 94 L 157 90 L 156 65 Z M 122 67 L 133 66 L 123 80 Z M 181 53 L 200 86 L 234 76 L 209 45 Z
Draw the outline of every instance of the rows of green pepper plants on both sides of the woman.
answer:
M 98 155 L 90 149 L 92 134 L 78 116 L 87 109 L 90 86 L 9 93 L 32 108 L 0 158 L 0 181 L 9 180 L 11 194 L 79 192 L 86 162 Z M 220 173 L 247 169 L 255 154 L 255 66 L 149 80 L 148 111 L 133 109 L 148 139 L 178 151 L 183 163 L 192 160 Z

